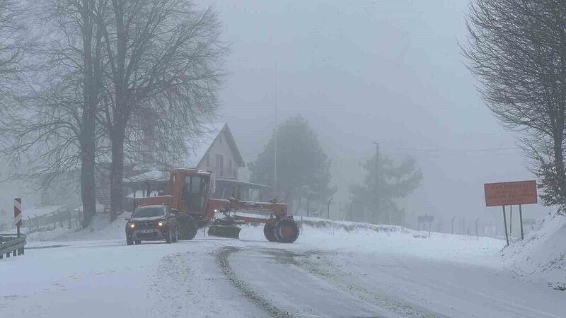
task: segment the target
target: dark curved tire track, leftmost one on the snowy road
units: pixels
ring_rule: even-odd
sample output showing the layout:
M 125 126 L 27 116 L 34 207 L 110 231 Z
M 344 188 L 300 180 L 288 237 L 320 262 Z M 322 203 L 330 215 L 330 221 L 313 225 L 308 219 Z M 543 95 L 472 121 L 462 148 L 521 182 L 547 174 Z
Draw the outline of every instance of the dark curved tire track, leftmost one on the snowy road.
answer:
M 218 262 L 222 273 L 229 279 L 234 287 L 243 293 L 251 302 L 260 307 L 265 312 L 268 312 L 274 318 L 293 318 L 289 312 L 279 309 L 272 304 L 266 298 L 263 298 L 257 292 L 255 292 L 250 286 L 244 282 L 241 278 L 238 278 L 236 273 L 230 266 L 229 256 L 232 253 L 238 252 L 240 249 L 238 247 L 224 247 L 216 251 L 216 261 Z

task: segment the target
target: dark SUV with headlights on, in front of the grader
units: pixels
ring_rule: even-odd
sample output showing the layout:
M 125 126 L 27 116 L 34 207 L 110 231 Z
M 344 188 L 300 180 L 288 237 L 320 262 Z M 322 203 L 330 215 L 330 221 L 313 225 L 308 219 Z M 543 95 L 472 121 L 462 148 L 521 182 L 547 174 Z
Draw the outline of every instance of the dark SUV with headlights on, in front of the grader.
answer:
M 178 242 L 179 230 L 174 210 L 168 206 L 139 206 L 131 217 L 127 217 L 126 243 L 140 244 L 141 241 L 165 240 Z

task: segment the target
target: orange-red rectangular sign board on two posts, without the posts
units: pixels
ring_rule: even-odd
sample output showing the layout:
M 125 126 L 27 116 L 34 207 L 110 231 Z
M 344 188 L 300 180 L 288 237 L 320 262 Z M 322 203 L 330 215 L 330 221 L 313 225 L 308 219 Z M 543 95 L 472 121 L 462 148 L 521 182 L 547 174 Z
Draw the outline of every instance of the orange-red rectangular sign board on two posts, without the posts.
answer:
M 497 182 L 483 184 L 485 206 L 536 204 L 536 181 Z

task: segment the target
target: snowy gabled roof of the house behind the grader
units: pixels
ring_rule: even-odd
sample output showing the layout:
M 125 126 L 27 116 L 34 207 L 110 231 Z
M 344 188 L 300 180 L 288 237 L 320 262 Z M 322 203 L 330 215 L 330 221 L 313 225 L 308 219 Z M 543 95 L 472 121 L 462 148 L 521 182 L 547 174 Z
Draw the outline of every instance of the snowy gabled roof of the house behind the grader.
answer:
M 197 167 L 204 159 L 204 155 L 207 154 L 212 143 L 214 143 L 219 134 L 222 132 L 226 135 L 226 140 L 228 141 L 230 149 L 236 159 L 236 165 L 238 165 L 238 167 L 245 167 L 246 163 L 244 163 L 232 132 L 226 123 L 217 123 L 207 126 L 204 134 L 202 134 L 200 138 L 197 138 L 195 141 L 192 141 L 192 143 L 187 144 L 187 148 L 189 149 L 189 153 L 187 154 L 187 164 L 190 167 Z

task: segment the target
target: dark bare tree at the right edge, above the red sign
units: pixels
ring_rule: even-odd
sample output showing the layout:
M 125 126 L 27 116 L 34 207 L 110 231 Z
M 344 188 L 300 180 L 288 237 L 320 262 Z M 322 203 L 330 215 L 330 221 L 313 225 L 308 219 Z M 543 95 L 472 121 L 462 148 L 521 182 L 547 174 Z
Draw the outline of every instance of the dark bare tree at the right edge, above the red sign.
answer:
M 545 204 L 566 206 L 566 3 L 475 0 L 463 54 L 495 116 L 521 132 Z

